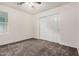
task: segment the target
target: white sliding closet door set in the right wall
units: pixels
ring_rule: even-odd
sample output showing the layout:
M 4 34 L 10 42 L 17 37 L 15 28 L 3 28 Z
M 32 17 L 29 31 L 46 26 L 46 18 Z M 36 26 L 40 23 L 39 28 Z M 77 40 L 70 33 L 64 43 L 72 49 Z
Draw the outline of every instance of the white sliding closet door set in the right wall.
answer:
M 40 18 L 40 39 L 52 42 L 60 42 L 60 29 L 58 15 L 50 15 Z

